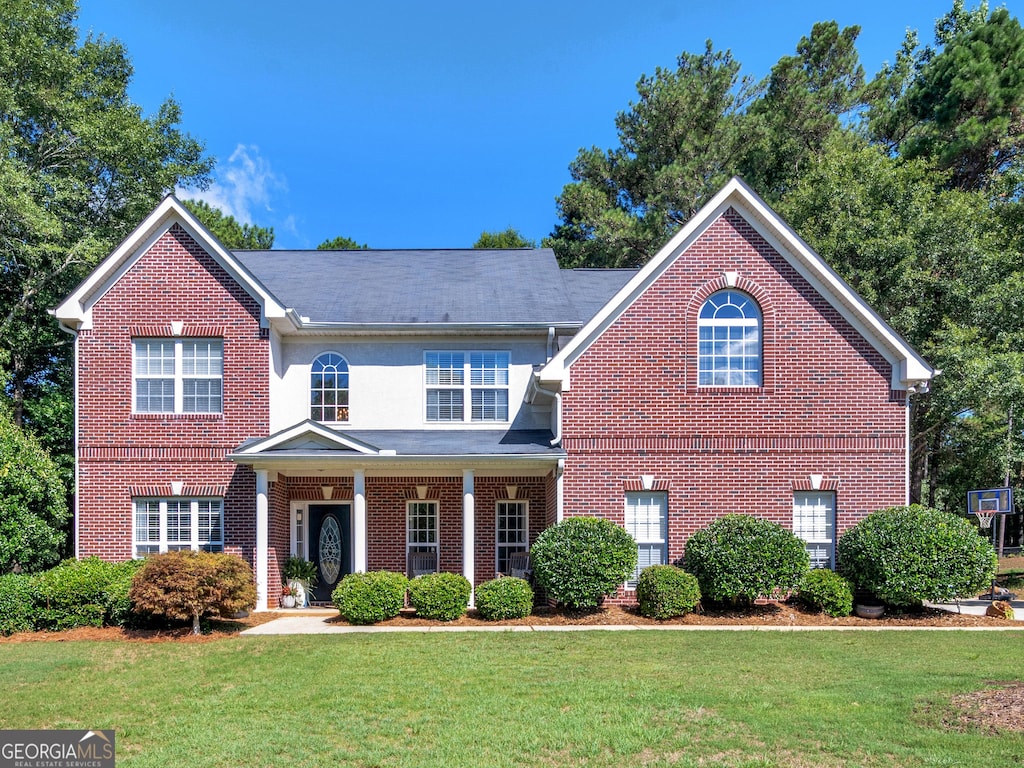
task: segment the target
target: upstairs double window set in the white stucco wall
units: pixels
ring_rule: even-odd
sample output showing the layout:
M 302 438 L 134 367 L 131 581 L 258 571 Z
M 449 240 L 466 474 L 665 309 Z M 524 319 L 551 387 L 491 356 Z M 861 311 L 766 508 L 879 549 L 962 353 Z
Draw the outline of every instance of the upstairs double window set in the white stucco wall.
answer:
M 427 352 L 427 421 L 508 421 L 509 359 L 509 352 Z

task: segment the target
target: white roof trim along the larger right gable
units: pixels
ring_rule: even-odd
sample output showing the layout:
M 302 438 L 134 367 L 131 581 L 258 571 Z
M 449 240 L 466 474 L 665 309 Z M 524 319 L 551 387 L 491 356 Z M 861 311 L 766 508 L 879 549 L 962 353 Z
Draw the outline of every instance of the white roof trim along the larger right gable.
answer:
M 581 329 L 538 374 L 542 384 L 567 390 L 572 365 L 630 306 L 732 209 L 892 366 L 893 389 L 924 389 L 935 370 L 741 179 L 732 178 Z M 730 284 L 723 269 L 723 287 Z

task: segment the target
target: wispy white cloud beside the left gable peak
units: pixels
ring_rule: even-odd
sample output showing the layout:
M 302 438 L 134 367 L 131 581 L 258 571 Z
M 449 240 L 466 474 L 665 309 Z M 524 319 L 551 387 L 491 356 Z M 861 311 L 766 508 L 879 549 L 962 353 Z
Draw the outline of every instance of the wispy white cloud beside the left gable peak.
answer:
M 180 190 L 178 196 L 202 200 L 243 224 L 266 226 L 266 221 L 253 221 L 253 210 L 272 211 L 272 194 L 288 190 L 285 179 L 274 174 L 255 144 L 236 146 L 226 163 L 217 164 L 213 175 L 216 180 L 208 189 Z

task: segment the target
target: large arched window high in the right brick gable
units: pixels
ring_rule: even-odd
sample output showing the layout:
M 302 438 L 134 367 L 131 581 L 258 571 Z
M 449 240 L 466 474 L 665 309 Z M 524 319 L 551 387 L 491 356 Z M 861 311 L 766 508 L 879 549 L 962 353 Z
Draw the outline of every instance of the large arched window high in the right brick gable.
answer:
M 761 309 L 739 291 L 719 291 L 697 316 L 697 383 L 761 386 Z

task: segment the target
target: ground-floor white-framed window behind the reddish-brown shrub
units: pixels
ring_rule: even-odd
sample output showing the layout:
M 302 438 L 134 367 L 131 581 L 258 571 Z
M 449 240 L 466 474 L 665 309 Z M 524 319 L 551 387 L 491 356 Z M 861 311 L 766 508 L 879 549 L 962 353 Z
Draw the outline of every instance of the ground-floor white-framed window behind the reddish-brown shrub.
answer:
M 220 499 L 136 499 L 135 557 L 190 549 L 224 550 Z

